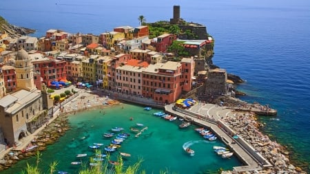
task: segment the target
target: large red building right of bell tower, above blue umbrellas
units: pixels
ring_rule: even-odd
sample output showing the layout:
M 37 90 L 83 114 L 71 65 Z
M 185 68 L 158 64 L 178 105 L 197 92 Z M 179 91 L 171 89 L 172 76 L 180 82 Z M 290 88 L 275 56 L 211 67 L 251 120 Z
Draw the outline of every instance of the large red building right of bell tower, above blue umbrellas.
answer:
M 67 79 L 65 63 L 65 61 L 47 57 L 32 61 L 34 72 L 39 72 L 43 79 L 43 83 L 48 86 L 50 86 L 50 83 L 54 80 L 59 81 L 61 79 Z

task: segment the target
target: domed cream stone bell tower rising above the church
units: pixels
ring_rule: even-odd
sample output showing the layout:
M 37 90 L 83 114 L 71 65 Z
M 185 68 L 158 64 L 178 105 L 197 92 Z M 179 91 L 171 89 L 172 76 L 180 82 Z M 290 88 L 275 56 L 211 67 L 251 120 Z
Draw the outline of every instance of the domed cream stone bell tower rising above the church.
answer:
M 27 91 L 34 91 L 37 89 L 34 85 L 32 64 L 25 50 L 19 50 L 19 52 L 17 52 L 14 68 L 18 89 L 25 89 Z

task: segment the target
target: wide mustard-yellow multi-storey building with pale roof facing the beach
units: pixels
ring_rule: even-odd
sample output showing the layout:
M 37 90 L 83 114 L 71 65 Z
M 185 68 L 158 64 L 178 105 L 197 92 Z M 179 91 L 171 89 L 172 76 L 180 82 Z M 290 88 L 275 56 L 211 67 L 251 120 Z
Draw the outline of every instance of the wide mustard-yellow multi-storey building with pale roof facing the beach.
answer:
M 99 58 L 97 55 L 92 55 L 85 61 L 82 61 L 83 67 L 83 79 L 87 83 L 96 84 L 96 59 Z

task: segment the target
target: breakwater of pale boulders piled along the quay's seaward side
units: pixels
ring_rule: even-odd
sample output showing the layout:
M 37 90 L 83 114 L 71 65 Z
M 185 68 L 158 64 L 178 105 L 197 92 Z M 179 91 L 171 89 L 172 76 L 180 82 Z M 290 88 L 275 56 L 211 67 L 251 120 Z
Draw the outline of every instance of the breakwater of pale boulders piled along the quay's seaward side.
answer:
M 267 135 L 258 131 L 262 124 L 257 121 L 254 113 L 238 112 L 236 117 L 226 117 L 222 121 L 273 165 L 262 171 L 246 173 L 305 173 L 301 168 L 289 162 L 289 152 L 283 146 L 271 141 Z

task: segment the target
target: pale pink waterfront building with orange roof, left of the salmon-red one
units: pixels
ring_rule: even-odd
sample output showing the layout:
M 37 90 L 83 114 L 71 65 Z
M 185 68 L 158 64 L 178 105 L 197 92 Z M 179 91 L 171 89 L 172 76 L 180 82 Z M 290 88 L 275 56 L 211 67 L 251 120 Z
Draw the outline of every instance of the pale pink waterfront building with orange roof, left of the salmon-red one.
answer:
M 116 90 L 125 94 L 142 95 L 142 72 L 149 64 L 131 59 L 116 68 Z

